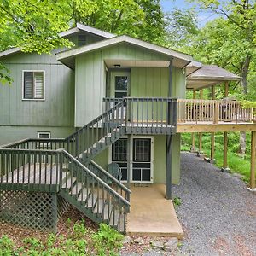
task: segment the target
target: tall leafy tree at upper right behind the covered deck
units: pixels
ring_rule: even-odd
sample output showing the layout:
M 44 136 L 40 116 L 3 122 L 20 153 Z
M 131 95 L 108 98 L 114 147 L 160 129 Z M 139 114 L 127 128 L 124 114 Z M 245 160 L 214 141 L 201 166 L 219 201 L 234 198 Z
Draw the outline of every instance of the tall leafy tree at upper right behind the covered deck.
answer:
M 201 9 L 210 10 L 224 17 L 222 20 L 216 20 L 216 23 L 213 21 L 213 24 L 208 25 L 203 32 L 213 27 L 218 32 L 215 35 L 215 41 L 217 38 L 220 41 L 226 38 L 223 47 L 217 47 L 218 49 L 215 50 L 221 50 L 224 61 L 229 62 L 241 75 L 243 93 L 247 94 L 248 77 L 250 77 L 250 71 L 253 71 L 256 49 L 256 1 L 195 0 L 190 2 L 196 2 L 200 4 Z M 218 42 L 215 43 L 218 45 Z M 226 55 L 230 55 L 231 59 L 226 59 Z

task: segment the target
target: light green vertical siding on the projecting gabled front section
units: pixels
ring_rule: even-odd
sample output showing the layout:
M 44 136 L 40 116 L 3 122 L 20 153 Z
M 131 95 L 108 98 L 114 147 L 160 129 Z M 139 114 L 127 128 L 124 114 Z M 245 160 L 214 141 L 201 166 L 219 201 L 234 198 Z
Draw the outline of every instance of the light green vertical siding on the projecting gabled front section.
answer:
M 102 113 L 102 99 L 106 96 L 106 67 L 104 61 L 111 59 L 116 60 L 117 62 L 118 60 L 168 60 L 165 55 L 156 54 L 153 51 L 138 48 L 125 43 L 77 56 L 75 126 L 81 127 Z M 160 84 L 165 84 L 164 79 L 167 81 L 166 71 L 162 69 L 155 69 L 154 78 L 159 80 Z M 134 72 L 136 71 L 134 70 Z M 145 78 L 148 75 L 152 76 L 150 69 L 145 69 L 144 72 L 147 72 L 144 74 Z M 159 74 L 160 77 L 162 77 L 160 79 L 157 78 L 159 77 Z M 136 76 L 138 80 L 135 83 L 141 84 L 140 79 L 143 78 L 141 78 L 138 74 L 135 74 L 134 79 L 136 79 Z M 149 82 L 153 87 L 152 81 L 149 81 L 148 79 L 148 83 Z M 132 78 L 131 88 L 133 88 Z M 154 90 L 159 93 L 157 87 L 154 87 Z M 164 96 L 165 90 L 166 89 L 160 91 L 162 96 Z M 91 106 L 93 106 L 93 108 L 91 108 Z

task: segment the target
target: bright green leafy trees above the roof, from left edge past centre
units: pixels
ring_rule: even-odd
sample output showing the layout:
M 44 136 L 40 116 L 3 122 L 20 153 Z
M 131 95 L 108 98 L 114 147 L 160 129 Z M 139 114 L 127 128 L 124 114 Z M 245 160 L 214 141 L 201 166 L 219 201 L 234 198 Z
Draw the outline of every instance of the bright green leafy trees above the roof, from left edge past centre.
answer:
M 165 35 L 160 0 L 0 0 L 0 16 L 0 51 L 20 47 L 41 54 L 68 47 L 59 32 L 76 22 L 154 43 Z M 0 79 L 9 81 L 1 62 Z

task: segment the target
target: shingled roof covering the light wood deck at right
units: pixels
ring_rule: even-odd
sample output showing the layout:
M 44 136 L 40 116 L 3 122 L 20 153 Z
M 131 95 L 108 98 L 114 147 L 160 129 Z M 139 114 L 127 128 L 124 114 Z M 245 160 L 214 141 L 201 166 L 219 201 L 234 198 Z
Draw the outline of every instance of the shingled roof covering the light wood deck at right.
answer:
M 241 77 L 217 65 L 202 65 L 202 67 L 187 77 L 187 88 L 198 90 L 225 81 L 239 81 Z

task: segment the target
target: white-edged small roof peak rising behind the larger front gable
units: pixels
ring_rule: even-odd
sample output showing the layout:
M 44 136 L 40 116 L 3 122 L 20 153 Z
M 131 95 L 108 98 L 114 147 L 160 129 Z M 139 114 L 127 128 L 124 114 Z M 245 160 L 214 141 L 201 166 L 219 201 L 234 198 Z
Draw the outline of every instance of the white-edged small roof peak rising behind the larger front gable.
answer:
M 90 34 L 94 34 L 94 35 L 102 37 L 102 38 L 114 38 L 114 37 L 116 37 L 116 35 L 114 35 L 112 33 L 102 31 L 102 30 L 97 29 L 95 27 L 86 26 L 86 25 L 83 25 L 83 24 L 80 24 L 80 23 L 77 23 L 76 27 L 73 27 L 73 28 L 67 30 L 66 32 L 61 32 L 59 35 L 60 35 L 60 37 L 64 38 L 64 37 L 73 35 L 74 33 L 80 32 L 80 31 L 89 32 Z

